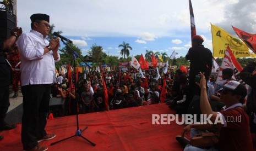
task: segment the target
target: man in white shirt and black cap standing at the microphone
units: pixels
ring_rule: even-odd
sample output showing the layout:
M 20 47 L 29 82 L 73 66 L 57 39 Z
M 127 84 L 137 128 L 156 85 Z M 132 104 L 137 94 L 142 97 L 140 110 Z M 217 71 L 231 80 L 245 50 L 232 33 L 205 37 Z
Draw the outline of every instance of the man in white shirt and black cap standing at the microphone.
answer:
M 30 16 L 29 33 L 21 34 L 16 44 L 21 53 L 21 91 L 23 94 L 23 119 L 21 142 L 24 150 L 47 150 L 38 142 L 51 140 L 56 135 L 45 131 L 46 114 L 49 108 L 51 84 L 55 80 L 55 62 L 60 60 L 57 53 L 59 39 L 46 36 L 50 32 L 50 16 Z

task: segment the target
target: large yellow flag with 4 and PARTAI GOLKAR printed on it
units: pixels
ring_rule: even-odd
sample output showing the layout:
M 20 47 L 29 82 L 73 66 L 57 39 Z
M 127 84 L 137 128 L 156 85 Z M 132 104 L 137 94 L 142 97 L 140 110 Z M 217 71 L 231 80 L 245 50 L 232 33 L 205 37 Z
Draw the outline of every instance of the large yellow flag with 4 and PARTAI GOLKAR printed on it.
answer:
M 224 57 L 228 45 L 235 57 L 250 56 L 247 45 L 242 40 L 231 36 L 222 28 L 211 24 L 211 34 L 213 36 L 214 57 Z

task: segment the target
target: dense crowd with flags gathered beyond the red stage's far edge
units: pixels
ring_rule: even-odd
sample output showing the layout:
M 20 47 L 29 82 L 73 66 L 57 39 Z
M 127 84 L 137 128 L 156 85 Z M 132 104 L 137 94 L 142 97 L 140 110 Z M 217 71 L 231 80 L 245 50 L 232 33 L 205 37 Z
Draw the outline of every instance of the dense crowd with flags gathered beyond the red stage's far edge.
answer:
M 96 70 L 80 73 L 77 88 L 78 101 L 71 101 L 70 91 L 74 90 L 74 85 L 70 86 L 69 77 L 64 75 L 64 80 L 61 80 L 63 75 L 59 75 L 56 83 L 52 85 L 52 97 L 66 99 L 66 112 L 69 115 L 76 114 L 77 107 L 78 113 L 90 113 L 160 103 L 164 79 L 156 80 L 157 73 L 154 69 L 145 71 L 144 74 L 145 77 L 141 78 L 140 73 L 135 69 L 120 72 L 103 71 L 103 77 L 102 73 Z M 173 76 L 173 73 L 165 74 L 166 87 L 170 88 L 168 90 L 170 93 L 173 80 L 169 76 Z M 72 77 L 72 83 L 75 83 L 75 76 Z M 103 78 L 107 87 L 108 100 L 104 98 Z

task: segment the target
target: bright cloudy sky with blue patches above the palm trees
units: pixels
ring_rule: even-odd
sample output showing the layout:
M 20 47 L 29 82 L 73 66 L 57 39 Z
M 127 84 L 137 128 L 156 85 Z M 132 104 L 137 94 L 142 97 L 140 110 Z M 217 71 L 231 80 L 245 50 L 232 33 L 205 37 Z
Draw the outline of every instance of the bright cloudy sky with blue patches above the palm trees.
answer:
M 204 37 L 205 47 L 212 50 L 210 24 L 233 36 L 231 25 L 256 33 L 255 0 L 191 0 L 197 34 Z M 121 56 L 123 41 L 133 48 L 130 55 L 145 50 L 167 53 L 176 50 L 185 56 L 191 46 L 188 0 L 44 0 L 17 2 L 18 26 L 30 31 L 30 16 L 50 15 L 55 31 L 87 54 L 93 44 L 109 55 Z M 63 46 L 63 44 L 62 44 Z

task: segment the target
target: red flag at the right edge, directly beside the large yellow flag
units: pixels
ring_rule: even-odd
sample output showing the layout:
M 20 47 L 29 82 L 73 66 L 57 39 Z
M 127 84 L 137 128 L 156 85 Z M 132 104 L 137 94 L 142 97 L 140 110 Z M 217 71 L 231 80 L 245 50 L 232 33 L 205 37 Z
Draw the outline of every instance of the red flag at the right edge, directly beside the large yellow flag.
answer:
M 233 26 L 232 26 L 233 27 Z M 239 30 L 236 27 L 233 27 L 233 30 L 236 32 L 239 38 L 243 40 L 246 45 L 253 50 L 254 53 L 256 53 L 256 34 L 251 34 L 248 32 L 244 32 L 242 30 Z

